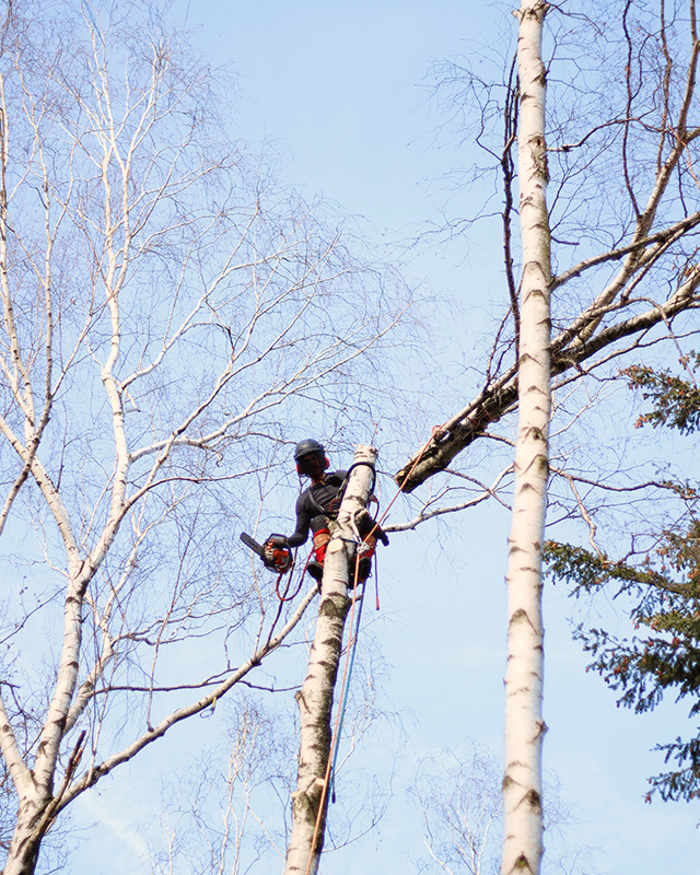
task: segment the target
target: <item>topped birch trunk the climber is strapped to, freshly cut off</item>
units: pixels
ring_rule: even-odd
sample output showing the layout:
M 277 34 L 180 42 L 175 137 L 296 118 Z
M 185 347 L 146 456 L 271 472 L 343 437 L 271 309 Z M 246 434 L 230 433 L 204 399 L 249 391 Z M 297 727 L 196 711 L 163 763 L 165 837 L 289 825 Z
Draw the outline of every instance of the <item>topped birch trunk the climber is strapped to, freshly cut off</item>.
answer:
M 338 526 L 328 545 L 318 606 L 316 633 L 306 679 L 296 693 L 300 711 L 300 749 L 296 791 L 292 793 L 292 831 L 284 875 L 316 875 L 324 845 L 330 761 L 330 715 L 338 676 L 350 598 L 348 580 L 358 540 L 355 520 L 366 506 L 372 488 L 376 451 L 358 446 L 354 464 L 366 463 L 350 474 L 338 514 Z M 320 817 L 319 817 L 320 813 Z

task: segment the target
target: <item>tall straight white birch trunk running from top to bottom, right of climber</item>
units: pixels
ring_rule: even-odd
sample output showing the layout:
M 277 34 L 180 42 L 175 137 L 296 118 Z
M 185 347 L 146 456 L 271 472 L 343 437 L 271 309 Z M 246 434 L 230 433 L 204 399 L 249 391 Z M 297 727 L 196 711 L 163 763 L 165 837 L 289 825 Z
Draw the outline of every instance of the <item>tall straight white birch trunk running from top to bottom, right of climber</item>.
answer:
M 539 875 L 544 850 L 541 747 L 547 726 L 541 710 L 541 550 L 549 469 L 551 280 L 546 197 L 546 83 L 541 61 L 546 11 L 547 4 L 541 0 L 522 0 L 518 13 L 518 175 L 523 280 L 515 495 L 506 572 L 509 631 L 502 875 Z

